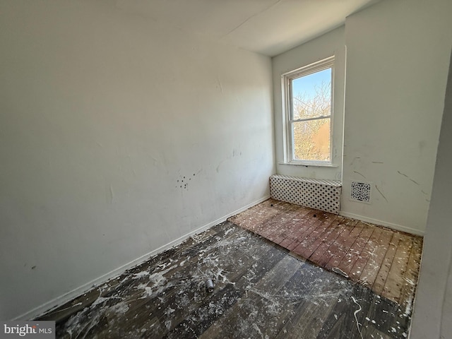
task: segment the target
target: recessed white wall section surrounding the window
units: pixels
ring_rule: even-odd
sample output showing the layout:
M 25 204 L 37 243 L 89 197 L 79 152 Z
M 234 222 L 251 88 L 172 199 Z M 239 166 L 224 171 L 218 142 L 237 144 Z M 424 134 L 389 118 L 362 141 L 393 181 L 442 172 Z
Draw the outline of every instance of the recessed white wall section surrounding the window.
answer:
M 307 66 L 316 61 L 335 56 L 334 97 L 333 97 L 333 167 L 316 167 L 284 164 L 284 123 L 281 76 L 284 73 Z M 345 28 L 337 28 L 306 44 L 290 49 L 272 59 L 273 100 L 275 111 L 275 154 L 278 174 L 296 177 L 335 179 L 342 175 L 343 150 L 343 110 L 345 87 Z

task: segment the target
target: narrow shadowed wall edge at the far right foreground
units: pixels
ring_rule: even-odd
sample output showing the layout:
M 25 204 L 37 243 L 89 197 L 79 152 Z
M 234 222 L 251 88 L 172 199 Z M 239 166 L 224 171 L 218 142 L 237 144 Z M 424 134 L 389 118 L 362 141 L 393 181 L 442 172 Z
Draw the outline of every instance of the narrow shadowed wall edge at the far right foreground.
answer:
M 450 338 L 452 333 L 452 58 L 439 137 L 411 339 Z

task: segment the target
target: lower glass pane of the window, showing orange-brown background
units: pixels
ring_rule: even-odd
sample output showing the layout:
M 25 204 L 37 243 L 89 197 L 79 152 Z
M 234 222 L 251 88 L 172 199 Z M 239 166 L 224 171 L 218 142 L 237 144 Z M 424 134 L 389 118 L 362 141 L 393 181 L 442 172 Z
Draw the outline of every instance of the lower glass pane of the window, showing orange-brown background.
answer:
M 330 118 L 294 122 L 294 160 L 330 161 L 330 129 Z

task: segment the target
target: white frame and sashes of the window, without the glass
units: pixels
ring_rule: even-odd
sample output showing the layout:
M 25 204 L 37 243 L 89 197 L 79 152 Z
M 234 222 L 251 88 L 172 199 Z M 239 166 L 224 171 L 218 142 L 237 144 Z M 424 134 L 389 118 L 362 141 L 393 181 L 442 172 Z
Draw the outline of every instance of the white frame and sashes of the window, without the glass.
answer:
M 334 59 L 335 57 L 328 57 L 314 64 L 303 66 L 294 71 L 284 73 L 281 76 L 283 89 L 283 121 L 285 126 L 285 159 L 284 162 L 290 165 L 312 165 L 312 166 L 326 166 L 331 167 L 333 160 L 333 102 L 334 102 Z M 317 73 L 325 69 L 331 69 L 331 114 L 325 117 L 316 117 L 310 119 L 292 119 L 293 118 L 293 102 L 292 102 L 292 80 L 302 76 L 308 76 L 312 73 Z M 314 119 L 330 118 L 330 160 L 299 160 L 295 159 L 294 138 L 292 124 L 297 121 L 308 121 Z

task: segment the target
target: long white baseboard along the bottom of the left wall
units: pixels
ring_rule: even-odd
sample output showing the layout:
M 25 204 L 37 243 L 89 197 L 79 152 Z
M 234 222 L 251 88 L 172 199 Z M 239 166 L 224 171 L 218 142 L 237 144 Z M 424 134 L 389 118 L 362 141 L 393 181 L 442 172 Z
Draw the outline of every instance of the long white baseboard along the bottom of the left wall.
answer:
M 182 237 L 179 237 L 172 242 L 169 242 L 168 244 L 165 244 L 164 246 L 160 246 L 158 249 L 155 249 L 153 251 L 150 251 L 147 254 L 144 254 L 143 256 L 140 256 L 139 258 L 136 258 L 133 261 L 130 261 L 129 263 L 126 263 L 123 266 L 120 266 L 119 268 L 116 268 L 109 273 L 106 273 L 104 275 L 101 275 L 99 278 L 95 278 L 94 280 L 91 280 L 90 282 L 80 286 L 76 287 L 74 290 L 71 290 L 70 292 L 65 293 L 64 295 L 61 295 L 55 299 L 50 300 L 49 302 L 46 302 L 39 307 L 35 307 L 35 309 L 32 309 L 24 314 L 21 314 L 20 316 L 17 316 L 14 319 L 11 319 L 11 321 L 20 321 L 20 320 L 30 320 L 35 319 L 37 316 L 40 316 L 44 313 L 47 313 L 47 311 L 51 311 L 52 309 L 56 309 L 57 307 L 60 307 L 63 304 L 66 304 L 66 302 L 71 301 L 75 297 L 78 297 L 79 295 L 83 295 L 83 293 L 88 292 L 96 285 L 100 285 L 102 283 L 107 282 L 108 280 L 117 277 L 118 275 L 121 275 L 126 270 L 129 270 L 135 266 L 140 265 L 144 261 L 148 260 L 149 258 L 160 254 L 162 251 L 165 251 L 167 249 L 170 249 L 173 246 L 177 246 L 184 242 L 184 240 L 188 239 L 189 237 L 201 233 L 205 230 L 208 230 L 210 227 L 213 227 L 215 225 L 218 225 L 220 222 L 225 221 L 227 218 L 230 218 L 232 215 L 236 215 L 237 213 L 243 212 L 244 210 L 257 205 L 258 203 L 261 203 L 263 201 L 266 201 L 270 198 L 270 195 L 264 196 L 263 198 L 258 199 L 257 201 L 254 201 L 253 203 L 249 203 L 248 205 L 239 208 L 238 210 L 234 210 L 233 212 L 224 215 L 222 218 L 219 218 L 217 220 L 214 220 L 213 222 L 209 222 L 207 225 L 204 225 L 202 227 L 198 227 L 196 230 L 193 230 Z

